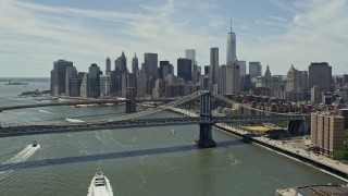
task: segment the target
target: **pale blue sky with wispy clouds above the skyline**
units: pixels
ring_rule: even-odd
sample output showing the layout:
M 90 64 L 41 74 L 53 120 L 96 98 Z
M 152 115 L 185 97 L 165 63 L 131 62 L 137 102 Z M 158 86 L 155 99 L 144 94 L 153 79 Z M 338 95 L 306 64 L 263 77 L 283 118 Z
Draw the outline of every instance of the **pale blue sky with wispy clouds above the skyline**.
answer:
M 237 58 L 269 64 L 285 75 L 290 65 L 308 70 L 326 61 L 348 73 L 347 0 L 0 0 L 0 76 L 50 76 L 66 59 L 80 72 L 104 70 L 124 50 L 159 53 L 176 70 L 185 49 L 209 64 L 211 47 L 225 63 L 229 19 Z

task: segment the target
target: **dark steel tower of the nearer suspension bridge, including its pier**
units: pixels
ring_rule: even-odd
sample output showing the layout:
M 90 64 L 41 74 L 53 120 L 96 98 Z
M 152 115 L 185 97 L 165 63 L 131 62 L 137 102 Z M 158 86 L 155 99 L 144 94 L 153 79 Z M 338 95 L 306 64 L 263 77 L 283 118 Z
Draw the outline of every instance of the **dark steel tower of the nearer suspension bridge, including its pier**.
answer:
M 211 119 L 211 91 L 202 90 L 200 95 L 200 117 Z M 212 123 L 199 124 L 199 140 L 198 146 L 201 148 L 216 147 L 216 143 L 212 138 Z

